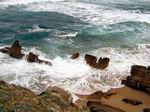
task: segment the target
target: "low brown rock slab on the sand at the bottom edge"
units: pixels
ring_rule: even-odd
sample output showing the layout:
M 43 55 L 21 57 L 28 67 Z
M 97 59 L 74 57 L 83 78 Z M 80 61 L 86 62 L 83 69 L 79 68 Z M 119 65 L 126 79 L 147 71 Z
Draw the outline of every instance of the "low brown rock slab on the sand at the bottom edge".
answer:
M 101 104 L 100 102 L 89 101 L 87 102 L 87 106 L 91 112 L 124 112 L 123 110 Z

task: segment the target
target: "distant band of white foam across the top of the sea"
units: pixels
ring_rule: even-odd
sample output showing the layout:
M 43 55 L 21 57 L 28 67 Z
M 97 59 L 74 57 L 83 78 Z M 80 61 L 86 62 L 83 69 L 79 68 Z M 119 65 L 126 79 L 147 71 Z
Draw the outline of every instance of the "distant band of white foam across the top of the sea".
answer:
M 149 13 L 137 13 L 136 10 L 121 10 L 107 4 L 97 5 L 84 3 L 83 1 L 75 2 L 75 0 L 10 0 L 6 2 L 0 2 L 0 5 L 10 6 L 23 4 L 26 6 L 25 10 L 28 11 L 52 11 L 64 13 L 94 25 L 114 24 L 124 21 L 140 21 L 150 23 Z M 102 0 L 102 2 L 104 1 Z M 121 0 L 107 0 L 106 2 L 108 2 L 109 4 L 109 2 L 121 2 Z M 131 2 L 138 3 L 138 0 L 136 2 Z M 130 3 L 130 1 L 124 0 L 121 3 Z

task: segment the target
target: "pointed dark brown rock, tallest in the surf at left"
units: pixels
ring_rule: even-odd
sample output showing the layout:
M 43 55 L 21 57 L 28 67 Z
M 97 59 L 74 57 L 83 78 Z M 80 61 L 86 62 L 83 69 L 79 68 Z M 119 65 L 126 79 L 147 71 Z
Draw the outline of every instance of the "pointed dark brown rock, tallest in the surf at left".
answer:
M 8 49 L 8 54 L 13 58 L 21 59 L 23 57 L 23 54 L 21 53 L 21 45 L 18 40 L 16 40 Z

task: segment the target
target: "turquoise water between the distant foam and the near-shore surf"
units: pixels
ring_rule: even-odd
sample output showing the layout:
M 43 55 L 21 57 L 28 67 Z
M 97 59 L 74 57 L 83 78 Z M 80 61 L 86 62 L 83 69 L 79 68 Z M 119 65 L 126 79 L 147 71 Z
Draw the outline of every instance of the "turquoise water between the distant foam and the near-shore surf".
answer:
M 103 5 L 98 1 L 96 3 Z M 26 10 L 27 6 L 14 5 L 0 10 L 1 44 L 10 45 L 13 41 L 20 40 L 27 48 L 36 47 L 49 57 L 56 57 L 71 52 L 85 53 L 103 47 L 133 48 L 137 44 L 150 42 L 149 22 L 138 21 L 136 17 L 135 20 L 118 22 L 113 18 L 114 22 L 111 24 L 95 25 L 79 17 L 57 11 L 29 11 Z M 150 17 L 149 5 L 144 2 L 143 4 L 111 3 L 107 7 L 112 12 L 120 10 L 132 14 L 134 11 L 135 16 L 146 13 L 145 15 Z

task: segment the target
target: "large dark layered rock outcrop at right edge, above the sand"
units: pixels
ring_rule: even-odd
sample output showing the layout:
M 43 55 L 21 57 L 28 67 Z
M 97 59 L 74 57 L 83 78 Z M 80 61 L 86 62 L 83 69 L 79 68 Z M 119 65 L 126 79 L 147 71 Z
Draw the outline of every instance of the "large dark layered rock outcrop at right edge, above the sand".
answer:
M 150 93 L 150 67 L 133 65 L 131 76 L 122 81 L 128 87 Z

